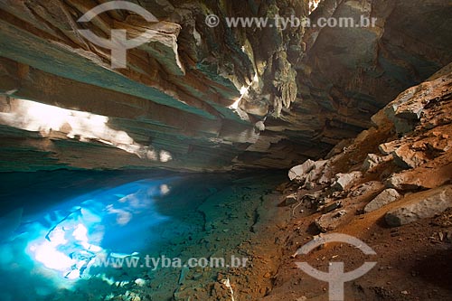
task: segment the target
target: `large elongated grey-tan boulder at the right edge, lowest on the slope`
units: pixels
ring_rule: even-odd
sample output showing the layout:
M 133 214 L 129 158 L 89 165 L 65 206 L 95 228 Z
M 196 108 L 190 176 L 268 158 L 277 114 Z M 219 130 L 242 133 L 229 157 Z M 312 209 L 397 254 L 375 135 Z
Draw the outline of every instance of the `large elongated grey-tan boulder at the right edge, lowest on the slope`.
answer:
M 431 218 L 452 207 L 452 185 L 431 189 L 410 196 L 411 201 L 387 212 L 385 220 L 391 227 Z

